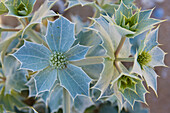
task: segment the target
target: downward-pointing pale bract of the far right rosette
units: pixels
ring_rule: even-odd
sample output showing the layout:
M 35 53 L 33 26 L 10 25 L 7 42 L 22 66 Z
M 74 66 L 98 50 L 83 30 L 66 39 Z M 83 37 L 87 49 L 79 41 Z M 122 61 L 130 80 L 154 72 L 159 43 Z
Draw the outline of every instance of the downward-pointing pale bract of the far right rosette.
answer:
M 150 68 L 148 66 L 145 66 L 143 68 L 144 68 L 144 70 L 142 71 L 142 75 L 146 81 L 147 86 L 148 87 L 150 86 L 154 90 L 155 94 L 157 94 L 157 77 L 158 77 L 158 75 L 152 68 Z

